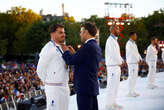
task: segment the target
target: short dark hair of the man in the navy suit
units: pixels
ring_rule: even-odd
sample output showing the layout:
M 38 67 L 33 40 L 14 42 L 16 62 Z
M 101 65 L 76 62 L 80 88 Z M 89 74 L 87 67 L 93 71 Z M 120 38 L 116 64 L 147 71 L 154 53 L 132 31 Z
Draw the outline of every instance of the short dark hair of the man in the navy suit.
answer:
M 84 27 L 86 30 L 88 30 L 91 36 L 95 36 L 97 33 L 97 27 L 93 23 L 87 22 L 87 23 L 82 24 L 81 27 Z

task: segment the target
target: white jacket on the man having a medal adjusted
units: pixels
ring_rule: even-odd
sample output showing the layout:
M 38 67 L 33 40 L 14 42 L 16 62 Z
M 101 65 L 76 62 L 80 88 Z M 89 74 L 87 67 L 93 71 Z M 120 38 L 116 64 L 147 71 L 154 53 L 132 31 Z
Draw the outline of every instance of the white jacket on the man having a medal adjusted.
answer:
M 37 74 L 44 83 L 68 83 L 69 73 L 62 54 L 51 41 L 43 47 L 39 56 Z

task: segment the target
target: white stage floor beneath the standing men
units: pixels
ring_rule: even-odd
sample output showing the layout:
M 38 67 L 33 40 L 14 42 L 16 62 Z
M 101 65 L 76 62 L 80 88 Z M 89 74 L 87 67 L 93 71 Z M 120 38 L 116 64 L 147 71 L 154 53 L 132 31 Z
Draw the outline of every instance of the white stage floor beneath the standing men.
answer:
M 164 72 L 157 73 L 155 84 L 156 89 L 147 88 L 147 79 L 138 78 L 136 92 L 139 97 L 127 97 L 127 81 L 120 83 L 120 89 L 117 97 L 117 103 L 122 105 L 122 110 L 164 110 Z M 98 96 L 99 110 L 107 110 L 104 105 L 105 90 L 100 89 Z M 77 110 L 76 95 L 70 97 L 69 110 Z

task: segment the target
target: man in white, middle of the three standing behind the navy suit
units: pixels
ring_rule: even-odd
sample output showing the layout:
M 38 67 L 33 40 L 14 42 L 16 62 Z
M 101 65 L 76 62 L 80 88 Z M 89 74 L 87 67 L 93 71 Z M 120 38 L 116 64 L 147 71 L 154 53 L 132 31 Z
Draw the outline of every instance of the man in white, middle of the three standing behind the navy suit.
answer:
M 135 92 L 136 81 L 138 77 L 138 64 L 141 62 L 142 58 L 138 52 L 136 45 L 137 35 L 135 32 L 130 32 L 130 39 L 126 43 L 126 63 L 128 64 L 128 96 L 136 97 L 139 96 Z

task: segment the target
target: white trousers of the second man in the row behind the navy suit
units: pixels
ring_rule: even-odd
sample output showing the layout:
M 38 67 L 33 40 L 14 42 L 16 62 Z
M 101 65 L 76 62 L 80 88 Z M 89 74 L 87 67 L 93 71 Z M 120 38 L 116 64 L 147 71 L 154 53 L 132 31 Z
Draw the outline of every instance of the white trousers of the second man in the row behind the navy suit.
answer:
M 138 78 L 138 64 L 128 64 L 128 75 L 129 93 L 134 93 Z

